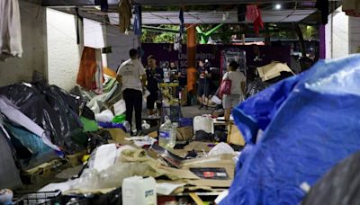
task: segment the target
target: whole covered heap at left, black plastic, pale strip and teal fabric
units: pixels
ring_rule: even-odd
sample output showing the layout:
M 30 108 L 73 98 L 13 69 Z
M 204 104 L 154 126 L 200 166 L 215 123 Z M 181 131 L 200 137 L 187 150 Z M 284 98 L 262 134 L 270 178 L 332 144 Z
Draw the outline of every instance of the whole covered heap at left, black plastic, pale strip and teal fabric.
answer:
M 0 164 L 6 167 L 1 175 L 9 176 L 0 177 L 1 187 L 19 187 L 19 171 L 84 151 L 94 141 L 88 132 L 91 122 L 95 124 L 91 131 L 97 130 L 94 112 L 84 99 L 33 79 L 0 87 L 0 140 L 4 142 Z

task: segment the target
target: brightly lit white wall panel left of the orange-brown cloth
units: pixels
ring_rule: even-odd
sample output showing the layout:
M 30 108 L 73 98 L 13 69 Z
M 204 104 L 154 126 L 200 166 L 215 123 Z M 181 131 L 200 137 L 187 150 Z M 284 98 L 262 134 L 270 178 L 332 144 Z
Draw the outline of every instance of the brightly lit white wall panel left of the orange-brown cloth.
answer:
M 47 9 L 49 84 L 70 90 L 76 84 L 82 46 L 76 42 L 76 17 Z

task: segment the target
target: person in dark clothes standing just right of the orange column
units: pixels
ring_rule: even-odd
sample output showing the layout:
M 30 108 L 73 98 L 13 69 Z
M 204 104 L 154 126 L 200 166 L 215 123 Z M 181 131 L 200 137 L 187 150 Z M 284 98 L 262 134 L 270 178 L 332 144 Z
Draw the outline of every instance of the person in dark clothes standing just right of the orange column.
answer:
M 200 109 L 202 109 L 202 107 L 203 106 L 206 107 L 207 103 L 209 102 L 208 97 L 209 97 L 210 79 L 211 79 L 210 67 L 206 67 L 205 64 L 202 62 L 202 60 L 199 61 L 197 76 L 198 76 L 197 98 L 200 103 Z

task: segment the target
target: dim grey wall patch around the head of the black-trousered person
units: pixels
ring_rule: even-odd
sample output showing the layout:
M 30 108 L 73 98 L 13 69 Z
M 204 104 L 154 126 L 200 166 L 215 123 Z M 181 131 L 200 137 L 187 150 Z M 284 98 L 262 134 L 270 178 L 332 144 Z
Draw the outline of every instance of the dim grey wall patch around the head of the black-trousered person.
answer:
M 108 67 L 116 71 L 122 60 L 129 59 L 129 50 L 139 47 L 138 37 L 131 32 L 125 35 L 113 26 L 105 26 L 104 36 L 106 45 L 112 46 L 112 53 L 106 55 Z

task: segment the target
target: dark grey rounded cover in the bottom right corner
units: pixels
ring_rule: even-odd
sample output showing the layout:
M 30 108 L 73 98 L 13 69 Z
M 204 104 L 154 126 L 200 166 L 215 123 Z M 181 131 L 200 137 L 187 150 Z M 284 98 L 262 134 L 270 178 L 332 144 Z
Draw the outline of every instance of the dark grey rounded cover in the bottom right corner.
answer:
M 347 157 L 325 174 L 306 195 L 302 205 L 356 205 L 360 201 L 360 152 Z

